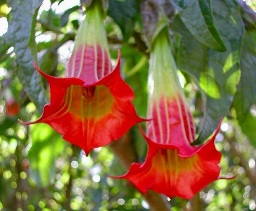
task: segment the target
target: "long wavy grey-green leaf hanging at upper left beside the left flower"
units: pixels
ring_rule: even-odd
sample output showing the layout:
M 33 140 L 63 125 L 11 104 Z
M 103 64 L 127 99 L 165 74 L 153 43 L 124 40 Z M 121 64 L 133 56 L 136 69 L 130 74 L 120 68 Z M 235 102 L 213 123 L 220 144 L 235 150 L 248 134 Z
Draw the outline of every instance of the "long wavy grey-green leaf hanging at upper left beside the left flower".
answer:
M 5 34 L 6 42 L 15 48 L 16 75 L 39 111 L 47 102 L 41 76 L 33 66 L 33 61 L 37 61 L 35 23 L 42 1 L 8 0 L 8 6 L 12 7 L 12 19 Z

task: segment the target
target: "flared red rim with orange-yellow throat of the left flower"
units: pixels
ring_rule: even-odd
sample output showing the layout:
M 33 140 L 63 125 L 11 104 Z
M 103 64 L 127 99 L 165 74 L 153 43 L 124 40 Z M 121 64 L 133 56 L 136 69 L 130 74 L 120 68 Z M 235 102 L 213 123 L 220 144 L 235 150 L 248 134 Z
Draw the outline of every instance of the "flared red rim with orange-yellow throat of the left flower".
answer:
M 38 70 L 49 82 L 50 104 L 44 106 L 37 121 L 23 123 L 47 123 L 87 155 L 93 148 L 117 140 L 134 124 L 144 121 L 136 115 L 130 102 L 133 91 L 120 77 L 119 68 L 120 52 L 116 68 L 92 84 L 79 78 L 49 76 Z

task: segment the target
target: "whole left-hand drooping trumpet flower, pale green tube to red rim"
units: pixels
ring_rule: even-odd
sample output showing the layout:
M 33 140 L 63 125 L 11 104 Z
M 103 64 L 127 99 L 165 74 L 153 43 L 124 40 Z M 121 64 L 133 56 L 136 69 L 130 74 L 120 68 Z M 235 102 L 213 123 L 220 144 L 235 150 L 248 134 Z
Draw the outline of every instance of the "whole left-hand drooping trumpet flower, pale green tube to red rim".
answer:
M 39 70 L 50 86 L 50 103 L 32 124 L 51 125 L 63 139 L 80 146 L 85 153 L 117 140 L 134 124 L 144 121 L 136 115 L 132 89 L 120 76 L 120 52 L 114 70 L 103 25 L 101 1 L 93 1 L 79 28 L 65 78 Z

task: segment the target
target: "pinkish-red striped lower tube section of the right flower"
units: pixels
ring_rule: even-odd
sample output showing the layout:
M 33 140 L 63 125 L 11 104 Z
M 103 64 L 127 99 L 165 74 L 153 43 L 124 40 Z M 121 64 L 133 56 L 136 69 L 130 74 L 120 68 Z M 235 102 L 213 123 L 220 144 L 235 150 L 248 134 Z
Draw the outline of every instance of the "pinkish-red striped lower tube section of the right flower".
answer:
M 148 112 L 148 119 L 152 120 L 147 123 L 147 135 L 152 141 L 183 148 L 195 140 L 193 117 L 183 98 L 176 93 L 173 98 L 162 95 L 159 100 L 152 99 Z

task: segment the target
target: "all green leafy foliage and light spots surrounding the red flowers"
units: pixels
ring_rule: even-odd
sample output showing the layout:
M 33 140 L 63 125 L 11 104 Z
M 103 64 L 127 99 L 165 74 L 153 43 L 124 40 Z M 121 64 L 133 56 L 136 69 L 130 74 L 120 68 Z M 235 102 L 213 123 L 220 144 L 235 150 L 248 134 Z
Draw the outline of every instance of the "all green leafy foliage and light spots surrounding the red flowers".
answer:
M 43 72 L 63 76 L 83 19 L 81 3 L 88 2 L 0 0 L 0 210 L 149 209 L 130 183 L 106 176 L 125 172 L 113 146 L 96 148 L 86 157 L 48 125 L 27 127 L 17 121 L 37 119 L 48 101 L 48 84 L 35 72 L 33 61 Z M 180 81 L 197 123 L 195 143 L 202 143 L 226 116 L 216 138 L 223 154 L 221 175 L 237 174 L 233 180 L 213 182 L 198 200 L 167 200 L 172 210 L 255 210 L 256 2 L 108 1 L 105 25 L 112 61 L 120 49 L 122 76 L 135 92 L 133 103 L 142 117 L 147 45 L 159 20 L 156 3 L 169 18 Z M 20 107 L 16 115 L 6 112 L 10 92 Z M 143 162 L 147 146 L 138 125 L 125 139 Z

